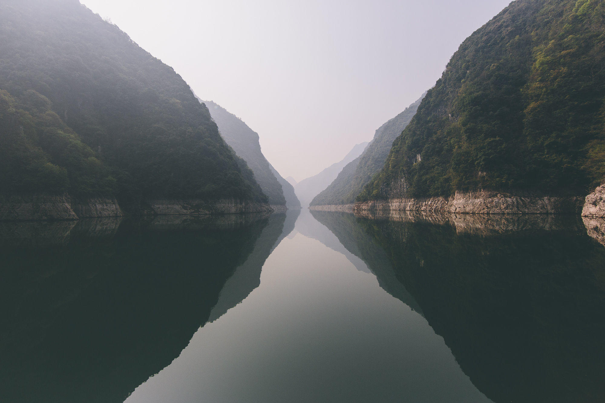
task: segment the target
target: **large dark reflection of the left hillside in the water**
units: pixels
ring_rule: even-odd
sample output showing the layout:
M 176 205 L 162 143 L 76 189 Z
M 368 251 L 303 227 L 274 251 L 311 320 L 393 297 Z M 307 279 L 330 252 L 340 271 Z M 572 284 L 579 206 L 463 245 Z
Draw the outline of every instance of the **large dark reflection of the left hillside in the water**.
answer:
M 122 402 L 206 323 L 267 222 L 229 215 L 4 225 L 3 401 Z

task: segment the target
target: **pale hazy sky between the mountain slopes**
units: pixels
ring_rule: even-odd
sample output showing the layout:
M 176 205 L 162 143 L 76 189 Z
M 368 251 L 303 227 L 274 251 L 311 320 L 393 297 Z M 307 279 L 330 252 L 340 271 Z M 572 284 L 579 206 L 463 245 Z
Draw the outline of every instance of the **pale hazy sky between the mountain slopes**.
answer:
M 432 87 L 510 0 L 80 0 L 260 135 L 300 181 Z

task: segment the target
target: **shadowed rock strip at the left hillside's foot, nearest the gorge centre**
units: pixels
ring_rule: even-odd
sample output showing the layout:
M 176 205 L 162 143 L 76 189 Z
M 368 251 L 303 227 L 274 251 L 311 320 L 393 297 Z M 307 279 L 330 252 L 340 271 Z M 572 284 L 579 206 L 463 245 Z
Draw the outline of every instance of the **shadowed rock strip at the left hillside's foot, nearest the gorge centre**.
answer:
M 240 201 L 234 198 L 209 202 L 206 200 L 149 200 L 148 205 L 157 215 L 206 215 L 271 212 L 266 203 Z

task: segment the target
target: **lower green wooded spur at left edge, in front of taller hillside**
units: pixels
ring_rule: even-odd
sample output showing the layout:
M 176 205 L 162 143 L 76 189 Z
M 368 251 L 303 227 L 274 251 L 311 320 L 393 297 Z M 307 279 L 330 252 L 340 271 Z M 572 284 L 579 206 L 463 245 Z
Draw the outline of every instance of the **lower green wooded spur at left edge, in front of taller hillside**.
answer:
M 0 189 L 10 194 L 114 194 L 116 179 L 56 113 L 26 91 L 0 90 Z

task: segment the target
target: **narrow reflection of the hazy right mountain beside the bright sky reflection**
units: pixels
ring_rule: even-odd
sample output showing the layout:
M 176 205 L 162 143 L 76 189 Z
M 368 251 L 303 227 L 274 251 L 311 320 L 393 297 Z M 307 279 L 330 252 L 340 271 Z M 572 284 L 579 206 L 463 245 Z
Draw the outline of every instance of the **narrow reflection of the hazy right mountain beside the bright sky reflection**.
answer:
M 397 280 L 393 266 L 381 246 L 356 223 L 357 218 L 346 212 L 311 211 L 313 217 L 338 237 L 339 243 L 361 258 L 386 292 L 422 315 L 414 297 Z

